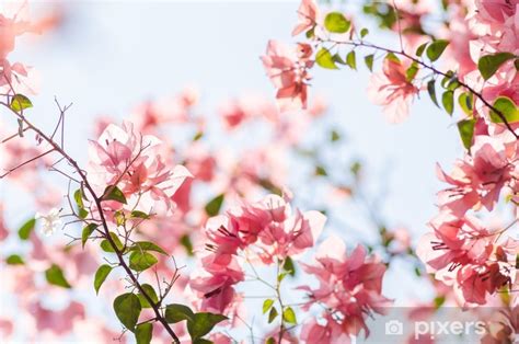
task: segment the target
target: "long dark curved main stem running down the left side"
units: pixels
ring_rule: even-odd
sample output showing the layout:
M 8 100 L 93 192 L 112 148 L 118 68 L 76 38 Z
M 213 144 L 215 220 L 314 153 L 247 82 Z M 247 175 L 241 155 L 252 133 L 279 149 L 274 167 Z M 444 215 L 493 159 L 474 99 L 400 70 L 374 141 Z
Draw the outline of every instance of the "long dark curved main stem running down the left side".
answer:
M 21 115 L 20 113 L 15 112 L 14 110 L 11 108 L 11 106 L 9 106 L 7 103 L 3 103 L 3 102 L 0 102 L 1 105 L 3 105 L 4 107 L 7 107 L 10 112 L 12 112 L 20 121 L 22 121 L 31 130 L 33 130 L 34 133 L 36 133 L 42 139 L 44 139 L 48 145 L 50 145 L 53 147 L 53 150 L 54 151 L 57 151 L 62 158 L 65 158 L 65 160 L 67 160 L 68 163 L 70 163 L 70 165 L 78 172 L 78 174 L 80 175 L 80 179 L 81 181 L 83 182 L 84 184 L 84 187 L 88 190 L 88 192 L 90 193 L 90 195 L 92 196 L 94 203 L 95 203 L 95 206 L 97 207 L 99 209 L 99 214 L 100 214 L 100 218 L 101 218 L 101 222 L 102 222 L 102 226 L 103 226 L 103 231 L 104 231 L 104 236 L 106 237 L 105 239 L 108 241 L 109 245 L 112 246 L 112 249 L 114 250 L 115 254 L 117 255 L 117 260 L 119 262 L 119 265 L 125 270 L 126 274 L 128 274 L 129 278 L 131 279 L 131 282 L 134 283 L 134 285 L 137 287 L 137 289 L 139 290 L 139 293 L 145 297 L 145 299 L 151 305 L 151 308 L 153 309 L 153 312 L 155 313 L 155 317 L 157 317 L 157 320 L 164 326 L 165 331 L 170 334 L 170 336 L 173 339 L 173 341 L 177 344 L 180 344 L 180 339 L 178 336 L 175 334 L 175 332 L 173 331 L 173 329 L 171 329 L 170 324 L 168 323 L 168 321 L 165 320 L 165 318 L 162 316 L 162 313 L 160 312 L 160 303 L 155 303 L 151 297 L 148 295 L 148 293 L 145 290 L 145 288 L 142 288 L 142 286 L 140 285 L 137 276 L 134 274 L 134 272 L 129 268 L 128 264 L 125 262 L 124 260 L 124 252 L 122 250 L 119 250 L 116 245 L 116 243 L 114 242 L 114 240 L 112 239 L 112 236 L 109 236 L 109 229 L 108 229 L 108 223 L 106 221 L 106 218 L 104 216 L 104 213 L 103 213 L 103 208 L 102 208 L 102 205 L 101 205 L 101 197 L 97 196 L 97 194 L 95 193 L 95 191 L 93 190 L 92 185 L 90 184 L 88 177 L 86 177 L 86 174 L 85 172 L 79 167 L 78 162 L 76 160 L 73 160 L 58 144 L 56 144 L 50 137 L 48 137 L 46 134 L 44 134 L 41 129 L 38 129 L 36 126 L 34 126 L 31 122 L 28 122 L 23 115 Z

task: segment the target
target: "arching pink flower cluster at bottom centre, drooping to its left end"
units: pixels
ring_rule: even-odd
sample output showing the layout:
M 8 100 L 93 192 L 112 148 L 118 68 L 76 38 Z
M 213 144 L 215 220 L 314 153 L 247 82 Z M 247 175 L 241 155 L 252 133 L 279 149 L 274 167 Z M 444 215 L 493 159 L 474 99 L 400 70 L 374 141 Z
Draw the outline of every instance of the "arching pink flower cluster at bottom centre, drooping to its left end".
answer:
M 325 217 L 319 211 L 301 213 L 284 198 L 269 195 L 208 220 L 209 252 L 201 257 L 204 273 L 191 287 L 201 298 L 200 308 L 223 312 L 234 299 L 234 285 L 244 279 L 240 253 L 254 245 L 264 264 L 295 257 L 313 246 Z M 247 257 L 254 259 L 254 257 Z

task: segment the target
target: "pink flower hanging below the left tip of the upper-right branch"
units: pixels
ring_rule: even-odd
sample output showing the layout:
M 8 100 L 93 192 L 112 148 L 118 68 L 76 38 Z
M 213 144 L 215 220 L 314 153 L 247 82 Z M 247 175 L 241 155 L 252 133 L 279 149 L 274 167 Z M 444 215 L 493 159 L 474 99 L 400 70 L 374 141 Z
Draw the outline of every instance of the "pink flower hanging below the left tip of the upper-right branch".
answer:
M 313 66 L 311 54 L 308 44 L 290 48 L 277 41 L 268 42 L 267 54 L 262 56 L 262 60 L 278 90 L 276 99 L 281 111 L 307 108 L 308 69 Z

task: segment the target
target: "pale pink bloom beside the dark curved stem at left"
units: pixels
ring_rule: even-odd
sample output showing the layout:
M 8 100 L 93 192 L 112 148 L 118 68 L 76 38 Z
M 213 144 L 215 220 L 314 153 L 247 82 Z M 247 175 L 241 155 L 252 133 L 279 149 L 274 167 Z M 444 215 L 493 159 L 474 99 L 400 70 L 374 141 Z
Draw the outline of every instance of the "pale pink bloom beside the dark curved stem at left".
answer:
M 117 186 L 132 209 L 138 204 L 146 213 L 157 207 L 171 210 L 172 196 L 192 175 L 182 165 L 172 167 L 161 149 L 157 137 L 136 134 L 129 122 L 123 127 L 108 125 L 90 145 L 89 177 L 101 194 Z M 106 204 L 113 209 L 123 207 L 119 202 Z

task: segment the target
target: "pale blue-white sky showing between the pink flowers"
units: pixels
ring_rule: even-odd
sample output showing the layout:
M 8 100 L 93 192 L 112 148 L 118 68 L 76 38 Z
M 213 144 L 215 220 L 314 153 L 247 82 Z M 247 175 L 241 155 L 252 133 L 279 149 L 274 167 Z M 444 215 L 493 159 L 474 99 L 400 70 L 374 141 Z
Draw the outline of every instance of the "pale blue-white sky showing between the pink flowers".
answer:
M 101 114 L 124 117 L 146 99 L 186 85 L 200 90 L 207 110 L 251 91 L 274 98 L 260 55 L 270 38 L 293 42 L 297 7 L 297 1 L 71 1 L 66 3 L 64 30 L 36 44 L 19 39 L 12 59 L 41 72 L 35 122 L 48 128 L 55 123 L 55 95 L 64 104 L 74 103 L 67 142 L 71 154 L 84 161 L 93 119 Z M 385 36 L 372 36 L 392 44 Z M 360 60 L 358 65 L 358 72 L 315 68 L 311 93 L 324 95 L 334 122 L 341 122 L 349 142 L 344 153 L 359 157 L 369 177 L 387 184 L 389 195 L 380 211 L 392 225 L 423 233 L 440 188 L 435 163 L 449 168 L 462 154 L 455 126 L 428 99 L 415 101 L 404 124 L 387 124 L 381 108 L 367 99 L 369 72 Z M 3 183 L 3 202 L 13 199 Z M 24 211 L 23 203 L 14 202 L 9 222 L 20 223 L 28 216 Z M 402 280 L 393 279 L 385 287 L 390 296 L 405 294 Z

